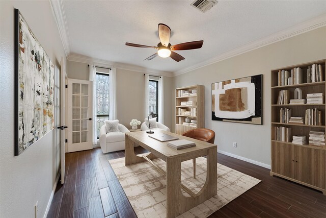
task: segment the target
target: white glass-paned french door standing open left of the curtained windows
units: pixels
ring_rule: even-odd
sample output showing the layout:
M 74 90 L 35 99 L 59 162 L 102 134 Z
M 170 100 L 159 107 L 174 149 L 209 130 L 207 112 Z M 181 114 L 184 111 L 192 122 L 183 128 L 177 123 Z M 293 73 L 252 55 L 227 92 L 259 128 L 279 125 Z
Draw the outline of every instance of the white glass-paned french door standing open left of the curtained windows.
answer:
M 68 153 L 93 149 L 92 86 L 92 81 L 68 79 Z

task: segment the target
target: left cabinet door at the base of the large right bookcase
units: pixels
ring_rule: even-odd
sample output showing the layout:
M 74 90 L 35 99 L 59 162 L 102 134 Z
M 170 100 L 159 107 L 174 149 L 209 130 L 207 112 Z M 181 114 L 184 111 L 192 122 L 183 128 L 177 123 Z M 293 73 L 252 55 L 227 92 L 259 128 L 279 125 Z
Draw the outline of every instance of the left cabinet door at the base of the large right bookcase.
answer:
M 291 144 L 271 143 L 271 171 L 286 177 L 294 177 L 293 148 Z

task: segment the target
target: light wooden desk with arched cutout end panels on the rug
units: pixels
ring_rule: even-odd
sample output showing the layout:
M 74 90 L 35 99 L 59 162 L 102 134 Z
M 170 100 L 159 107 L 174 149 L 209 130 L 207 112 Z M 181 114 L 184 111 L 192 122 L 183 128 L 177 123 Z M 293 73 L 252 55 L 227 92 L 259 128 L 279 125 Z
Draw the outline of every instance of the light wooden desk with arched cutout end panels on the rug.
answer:
M 143 157 L 135 155 L 134 142 L 150 152 L 146 156 L 148 159 L 160 158 L 167 163 L 167 217 L 176 217 L 215 196 L 217 193 L 217 146 L 163 130 L 155 130 L 155 133 L 165 133 L 196 143 L 196 147 L 175 150 L 168 147 L 167 142 L 149 137 L 146 131 L 125 134 L 125 165 L 146 161 Z M 183 196 L 181 162 L 205 155 L 207 155 L 207 175 L 203 188 L 194 196 Z

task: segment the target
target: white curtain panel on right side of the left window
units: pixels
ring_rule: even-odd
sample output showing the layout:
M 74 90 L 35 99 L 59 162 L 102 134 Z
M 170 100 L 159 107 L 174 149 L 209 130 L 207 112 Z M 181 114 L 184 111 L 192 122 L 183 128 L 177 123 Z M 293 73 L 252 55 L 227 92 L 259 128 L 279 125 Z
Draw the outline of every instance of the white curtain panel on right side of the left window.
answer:
M 110 112 L 108 118 L 110 120 L 117 119 L 117 70 L 112 67 L 110 74 Z

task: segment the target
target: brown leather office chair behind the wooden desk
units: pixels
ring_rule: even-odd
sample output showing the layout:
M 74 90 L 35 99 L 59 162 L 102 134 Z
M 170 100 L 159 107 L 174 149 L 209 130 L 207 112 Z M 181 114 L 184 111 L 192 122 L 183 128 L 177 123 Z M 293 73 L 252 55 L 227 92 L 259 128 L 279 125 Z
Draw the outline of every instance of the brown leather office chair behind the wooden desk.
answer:
M 189 138 L 195 138 L 201 141 L 206 141 L 208 143 L 213 144 L 214 139 L 215 139 L 215 132 L 210 129 L 206 128 L 197 128 L 197 129 L 192 129 L 188 130 L 181 135 L 187 136 Z M 196 178 L 196 158 L 193 159 L 193 164 L 194 164 L 194 178 Z

